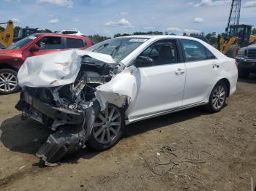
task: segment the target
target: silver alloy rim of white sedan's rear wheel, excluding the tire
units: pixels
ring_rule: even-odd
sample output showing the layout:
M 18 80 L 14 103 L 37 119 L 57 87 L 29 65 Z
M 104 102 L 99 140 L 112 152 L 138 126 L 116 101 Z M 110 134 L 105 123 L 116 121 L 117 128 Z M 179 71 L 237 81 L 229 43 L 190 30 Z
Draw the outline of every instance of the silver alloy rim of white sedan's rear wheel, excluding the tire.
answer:
M 226 98 L 225 87 L 223 87 L 222 85 L 217 86 L 214 90 L 214 94 L 212 96 L 212 101 L 211 101 L 211 104 L 214 107 L 214 109 L 216 110 L 220 109 L 225 103 L 225 98 Z

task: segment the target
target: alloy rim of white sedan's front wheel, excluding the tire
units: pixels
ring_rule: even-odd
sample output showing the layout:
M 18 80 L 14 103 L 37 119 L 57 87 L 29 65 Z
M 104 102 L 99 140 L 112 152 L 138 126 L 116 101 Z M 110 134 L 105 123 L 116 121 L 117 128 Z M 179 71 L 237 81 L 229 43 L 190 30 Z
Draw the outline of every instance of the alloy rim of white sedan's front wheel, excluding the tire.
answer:
M 105 112 L 100 113 L 94 122 L 94 138 L 101 144 L 108 144 L 118 135 L 121 129 L 121 112 L 116 106 L 107 105 Z

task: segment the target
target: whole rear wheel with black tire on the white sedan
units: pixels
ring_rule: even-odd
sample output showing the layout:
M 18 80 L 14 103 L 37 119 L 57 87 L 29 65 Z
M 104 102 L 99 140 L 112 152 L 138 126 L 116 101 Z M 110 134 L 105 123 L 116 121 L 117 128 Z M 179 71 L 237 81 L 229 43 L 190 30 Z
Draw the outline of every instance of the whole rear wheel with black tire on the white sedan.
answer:
M 224 82 L 218 82 L 217 85 L 214 86 L 213 90 L 211 90 L 211 95 L 205 109 L 211 113 L 221 111 L 225 106 L 226 98 L 227 86 Z

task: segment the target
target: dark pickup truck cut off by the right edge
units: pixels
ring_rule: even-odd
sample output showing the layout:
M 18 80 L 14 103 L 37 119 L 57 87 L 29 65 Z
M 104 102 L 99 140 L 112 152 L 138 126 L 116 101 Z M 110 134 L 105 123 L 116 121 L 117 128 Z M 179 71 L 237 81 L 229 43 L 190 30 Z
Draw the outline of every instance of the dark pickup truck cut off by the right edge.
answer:
M 250 73 L 256 74 L 256 44 L 243 47 L 236 57 L 238 63 L 238 76 L 249 77 Z

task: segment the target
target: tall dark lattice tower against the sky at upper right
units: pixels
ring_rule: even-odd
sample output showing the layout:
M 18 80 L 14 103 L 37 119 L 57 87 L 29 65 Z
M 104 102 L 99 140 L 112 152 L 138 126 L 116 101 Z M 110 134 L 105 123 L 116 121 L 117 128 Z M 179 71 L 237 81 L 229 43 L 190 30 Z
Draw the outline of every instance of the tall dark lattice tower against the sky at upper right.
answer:
M 239 25 L 240 21 L 240 10 L 241 10 L 241 0 L 232 0 L 231 8 L 230 8 L 230 16 L 227 21 L 226 34 L 230 25 Z

